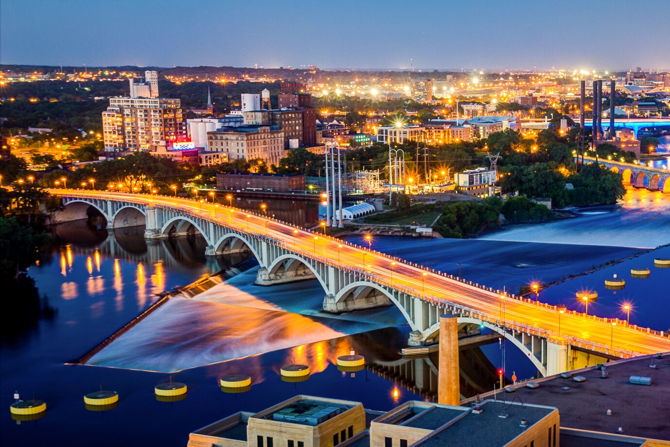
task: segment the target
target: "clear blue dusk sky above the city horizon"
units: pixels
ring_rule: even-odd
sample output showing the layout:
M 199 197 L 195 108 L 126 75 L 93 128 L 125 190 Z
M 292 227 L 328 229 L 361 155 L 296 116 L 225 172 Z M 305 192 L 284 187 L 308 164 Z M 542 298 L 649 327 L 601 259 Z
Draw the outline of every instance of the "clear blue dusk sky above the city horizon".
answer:
M 3 64 L 670 68 L 669 0 L 3 0 Z

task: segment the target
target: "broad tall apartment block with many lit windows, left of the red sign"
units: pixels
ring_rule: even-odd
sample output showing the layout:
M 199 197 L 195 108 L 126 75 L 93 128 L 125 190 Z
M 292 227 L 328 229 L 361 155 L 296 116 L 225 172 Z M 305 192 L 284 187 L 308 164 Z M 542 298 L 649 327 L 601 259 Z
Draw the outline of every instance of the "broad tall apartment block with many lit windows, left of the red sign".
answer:
M 107 151 L 148 151 L 187 137 L 186 113 L 178 99 L 110 98 L 103 112 Z

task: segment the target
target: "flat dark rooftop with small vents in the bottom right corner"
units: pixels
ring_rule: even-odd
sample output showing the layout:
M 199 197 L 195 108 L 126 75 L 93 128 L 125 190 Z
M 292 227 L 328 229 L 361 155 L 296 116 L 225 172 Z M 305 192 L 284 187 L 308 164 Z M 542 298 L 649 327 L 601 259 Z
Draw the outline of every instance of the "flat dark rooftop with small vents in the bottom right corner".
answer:
M 656 368 L 649 367 L 652 357 Z M 661 359 L 646 355 L 605 365 L 606 379 L 600 378 L 600 369 L 589 367 L 578 370 L 586 377 L 584 382 L 560 375 L 547 377 L 535 380 L 536 389 L 517 387 L 515 396 L 527 403 L 557 407 L 565 428 L 616 433 L 622 427 L 628 436 L 670 441 L 670 353 Z M 651 377 L 653 383 L 633 385 L 629 382 L 632 375 Z

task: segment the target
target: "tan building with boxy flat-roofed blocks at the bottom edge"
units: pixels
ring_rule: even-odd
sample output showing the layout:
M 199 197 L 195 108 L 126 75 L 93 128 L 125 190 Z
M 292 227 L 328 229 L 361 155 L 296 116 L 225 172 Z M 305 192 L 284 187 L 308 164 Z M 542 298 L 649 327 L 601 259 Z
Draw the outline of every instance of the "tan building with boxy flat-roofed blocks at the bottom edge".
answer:
M 358 402 L 298 395 L 196 430 L 188 447 L 557 447 L 555 407 L 487 400 L 476 407 L 405 402 L 384 413 Z

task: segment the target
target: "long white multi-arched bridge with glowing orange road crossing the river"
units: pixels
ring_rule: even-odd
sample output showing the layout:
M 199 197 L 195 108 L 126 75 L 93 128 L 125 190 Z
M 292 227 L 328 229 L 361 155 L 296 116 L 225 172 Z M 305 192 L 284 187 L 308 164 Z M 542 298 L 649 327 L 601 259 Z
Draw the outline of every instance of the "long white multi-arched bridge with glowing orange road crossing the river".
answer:
M 107 218 L 108 227 L 143 222 L 147 239 L 197 231 L 206 240 L 206 255 L 250 251 L 260 265 L 256 282 L 261 285 L 317 279 L 326 312 L 396 306 L 411 327 L 409 344 L 435 340 L 440 315 L 455 314 L 461 324 L 486 326 L 511 340 L 542 375 L 572 369 L 575 353 L 614 358 L 670 350 L 667 333 L 560 312 L 263 214 L 169 196 L 51 192 L 64 205 L 56 222 L 85 218 L 92 206 Z

